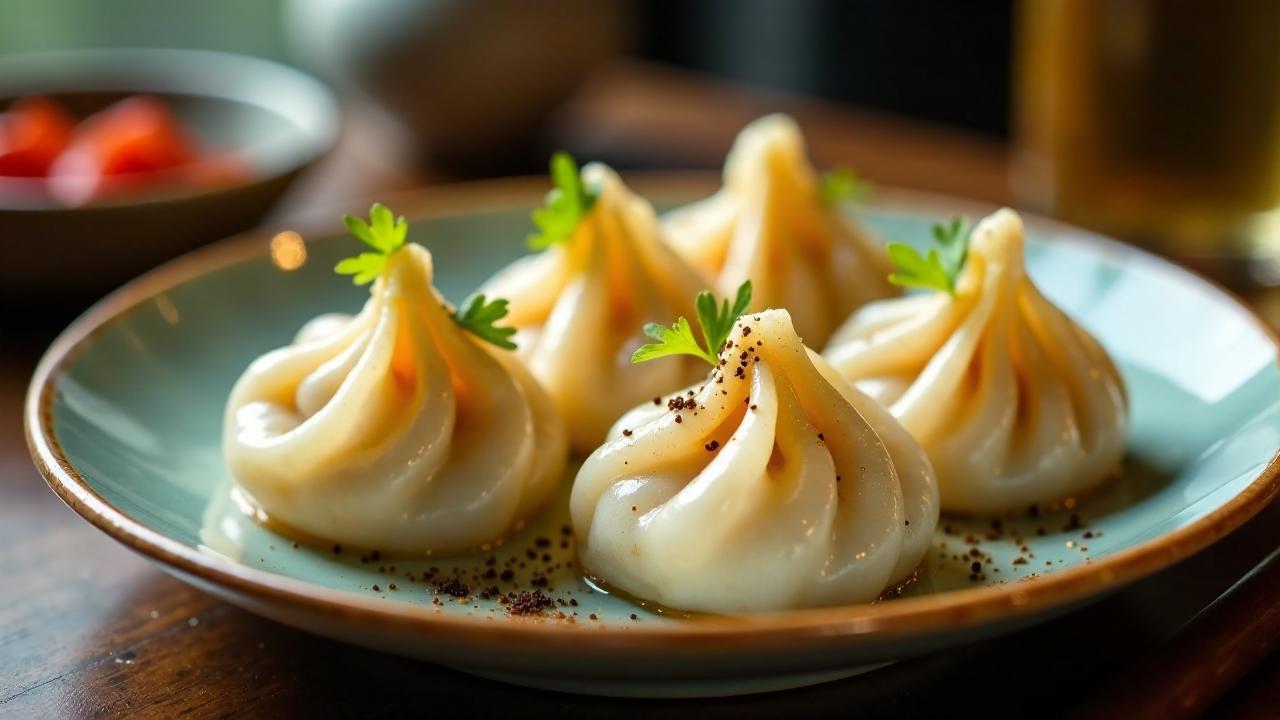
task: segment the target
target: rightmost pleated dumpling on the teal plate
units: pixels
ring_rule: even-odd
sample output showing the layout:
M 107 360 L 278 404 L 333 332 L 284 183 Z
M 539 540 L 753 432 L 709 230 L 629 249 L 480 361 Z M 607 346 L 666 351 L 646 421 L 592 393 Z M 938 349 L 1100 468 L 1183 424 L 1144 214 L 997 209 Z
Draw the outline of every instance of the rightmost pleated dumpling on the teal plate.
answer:
M 1061 500 L 1101 483 L 1124 455 L 1120 374 L 1027 277 L 1012 210 L 973 231 L 955 297 L 869 305 L 824 355 L 920 441 L 947 511 Z

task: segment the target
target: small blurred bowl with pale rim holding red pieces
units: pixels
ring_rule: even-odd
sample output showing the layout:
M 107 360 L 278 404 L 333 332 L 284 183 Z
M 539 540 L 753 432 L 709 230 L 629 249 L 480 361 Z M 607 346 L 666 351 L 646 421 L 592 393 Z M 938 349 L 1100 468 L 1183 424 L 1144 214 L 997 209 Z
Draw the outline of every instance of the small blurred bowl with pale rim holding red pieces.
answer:
M 0 295 L 97 295 L 192 247 L 257 224 L 334 143 L 338 104 L 292 68 L 197 50 L 77 50 L 0 59 L 0 106 L 44 95 L 78 115 L 129 95 L 165 101 L 201 145 L 234 154 L 247 179 L 74 208 L 0 193 Z M 161 183 L 163 184 L 163 183 Z M 33 199 L 35 197 L 35 199 Z

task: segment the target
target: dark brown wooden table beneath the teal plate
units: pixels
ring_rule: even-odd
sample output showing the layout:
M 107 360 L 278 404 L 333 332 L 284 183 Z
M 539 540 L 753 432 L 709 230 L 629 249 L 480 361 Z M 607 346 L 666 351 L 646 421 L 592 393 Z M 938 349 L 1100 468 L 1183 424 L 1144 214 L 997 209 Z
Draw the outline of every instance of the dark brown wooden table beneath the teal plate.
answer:
M 556 118 L 549 146 L 623 167 L 714 167 L 735 131 L 772 109 L 801 120 L 822 164 L 850 163 L 891 184 L 1009 196 L 1006 151 L 995 141 L 634 65 L 609 68 L 588 86 Z M 406 170 L 385 147 L 379 156 L 372 127 L 357 114 L 338 155 L 283 213 L 436 179 Z M 527 691 L 259 619 L 169 578 L 63 507 L 28 460 L 19 418 L 55 322 L 0 336 L 0 716 L 881 716 L 964 707 L 1070 715 L 1088 702 L 1115 707 L 1110 698 L 1123 693 L 1107 694 L 1116 687 L 1105 691 L 1107 683 L 1123 688 L 1143 662 L 1169 652 L 1180 626 L 1280 546 L 1280 505 L 1272 505 L 1213 548 L 1066 618 L 817 688 L 682 703 Z M 1249 612 L 1274 611 L 1270 602 Z M 1239 682 L 1228 675 L 1230 689 L 1219 697 L 1224 684 L 1213 678 L 1229 665 L 1206 660 L 1188 707 L 1277 712 L 1280 656 Z

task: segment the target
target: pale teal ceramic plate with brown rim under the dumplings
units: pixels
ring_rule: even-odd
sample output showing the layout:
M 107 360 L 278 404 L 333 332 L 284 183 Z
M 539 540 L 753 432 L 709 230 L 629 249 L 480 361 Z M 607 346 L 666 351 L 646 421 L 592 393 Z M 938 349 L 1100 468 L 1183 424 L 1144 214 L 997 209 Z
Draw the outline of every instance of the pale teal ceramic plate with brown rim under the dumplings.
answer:
M 671 200 L 701 183 L 640 184 Z M 524 252 L 529 208 L 543 192 L 543 181 L 515 181 L 392 206 L 417 219 L 412 240 L 433 249 L 440 288 L 457 300 Z M 919 240 L 933 220 L 988 210 L 882 192 L 864 219 L 883 237 Z M 1280 372 L 1266 327 L 1169 263 L 1046 220 L 1028 227 L 1032 275 L 1125 375 L 1133 437 L 1124 478 L 1074 509 L 998 528 L 945 519 L 920 579 L 876 605 L 750 618 L 650 612 L 575 574 L 563 497 L 493 565 L 486 556 L 335 555 L 257 527 L 228 492 L 223 404 L 246 364 L 305 320 L 358 307 L 365 291 L 332 272 L 353 250 L 346 238 L 308 236 L 307 260 L 292 272 L 273 264 L 266 238 L 242 238 L 108 297 L 41 363 L 27 432 L 54 491 L 108 534 L 209 592 L 315 633 L 589 693 L 727 694 L 835 679 L 1094 600 L 1216 541 L 1280 488 Z M 424 573 L 460 577 L 471 593 L 438 593 Z M 557 600 L 540 618 L 512 618 L 480 597 L 490 585 L 529 589 L 539 575 Z

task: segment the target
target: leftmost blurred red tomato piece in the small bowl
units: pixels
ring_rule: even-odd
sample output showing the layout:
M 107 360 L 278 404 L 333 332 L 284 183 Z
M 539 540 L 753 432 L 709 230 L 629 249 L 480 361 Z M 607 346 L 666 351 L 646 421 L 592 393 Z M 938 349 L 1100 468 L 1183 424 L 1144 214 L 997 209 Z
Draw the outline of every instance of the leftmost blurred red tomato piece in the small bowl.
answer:
M 0 176 L 38 178 L 72 138 L 74 119 L 47 97 L 23 97 L 0 113 Z

